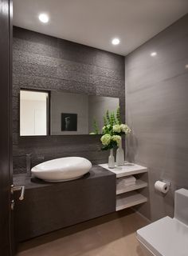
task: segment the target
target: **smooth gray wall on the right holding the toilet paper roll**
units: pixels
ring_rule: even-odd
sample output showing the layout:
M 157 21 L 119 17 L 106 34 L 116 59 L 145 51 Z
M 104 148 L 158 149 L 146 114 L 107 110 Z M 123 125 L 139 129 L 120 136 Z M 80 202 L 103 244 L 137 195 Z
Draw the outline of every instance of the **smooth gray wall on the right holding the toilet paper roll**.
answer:
M 151 52 L 157 56 L 151 57 Z M 127 158 L 149 167 L 151 220 L 173 216 L 174 190 L 188 189 L 188 14 L 126 57 Z M 156 180 L 171 182 L 155 192 Z M 149 193 L 148 193 L 149 192 Z

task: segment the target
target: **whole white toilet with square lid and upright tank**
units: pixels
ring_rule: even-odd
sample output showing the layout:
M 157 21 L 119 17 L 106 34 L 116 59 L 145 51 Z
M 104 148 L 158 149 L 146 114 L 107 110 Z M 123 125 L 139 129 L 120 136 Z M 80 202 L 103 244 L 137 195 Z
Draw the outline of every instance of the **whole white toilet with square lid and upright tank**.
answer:
M 188 256 L 188 190 L 176 190 L 174 200 L 174 218 L 167 216 L 137 230 L 145 256 Z

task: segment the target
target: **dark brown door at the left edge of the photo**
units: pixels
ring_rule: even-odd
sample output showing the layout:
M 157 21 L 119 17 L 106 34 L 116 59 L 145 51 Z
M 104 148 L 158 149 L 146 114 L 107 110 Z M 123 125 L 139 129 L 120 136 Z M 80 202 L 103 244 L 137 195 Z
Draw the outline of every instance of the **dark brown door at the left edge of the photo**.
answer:
M 10 185 L 12 184 L 12 2 L 0 0 L 0 255 L 10 256 L 13 225 Z

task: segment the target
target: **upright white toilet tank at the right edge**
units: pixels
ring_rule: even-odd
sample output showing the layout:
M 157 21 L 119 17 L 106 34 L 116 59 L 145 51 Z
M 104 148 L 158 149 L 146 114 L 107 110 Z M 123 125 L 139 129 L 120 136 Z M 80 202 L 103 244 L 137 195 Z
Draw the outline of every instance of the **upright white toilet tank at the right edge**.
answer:
M 188 190 L 186 189 L 175 191 L 174 218 L 188 226 Z

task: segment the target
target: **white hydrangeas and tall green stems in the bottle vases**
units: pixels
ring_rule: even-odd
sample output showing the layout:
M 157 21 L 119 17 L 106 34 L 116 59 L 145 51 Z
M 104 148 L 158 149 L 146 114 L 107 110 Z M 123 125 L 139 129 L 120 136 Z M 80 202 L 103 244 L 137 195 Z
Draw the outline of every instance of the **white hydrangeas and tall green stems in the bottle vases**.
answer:
M 102 142 L 102 150 L 110 150 L 116 146 L 119 146 L 121 142 L 121 135 L 130 134 L 131 129 L 127 124 L 123 124 L 120 119 L 119 107 L 114 113 L 109 113 L 107 110 L 104 116 L 104 127 L 102 130 L 103 136 L 100 138 Z

